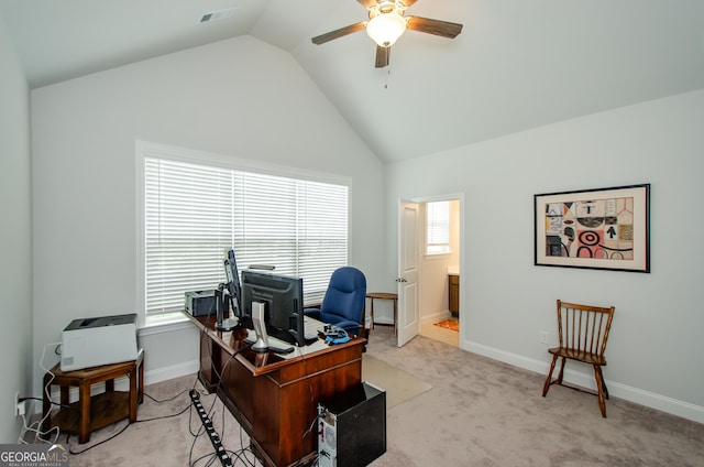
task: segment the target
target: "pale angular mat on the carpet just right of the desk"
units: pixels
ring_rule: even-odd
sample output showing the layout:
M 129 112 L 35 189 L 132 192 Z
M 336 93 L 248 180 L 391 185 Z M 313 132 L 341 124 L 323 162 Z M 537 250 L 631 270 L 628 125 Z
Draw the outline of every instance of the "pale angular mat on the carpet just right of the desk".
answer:
M 392 367 L 369 354 L 364 354 L 362 359 L 362 380 L 386 391 L 387 410 L 432 388 L 413 374 Z

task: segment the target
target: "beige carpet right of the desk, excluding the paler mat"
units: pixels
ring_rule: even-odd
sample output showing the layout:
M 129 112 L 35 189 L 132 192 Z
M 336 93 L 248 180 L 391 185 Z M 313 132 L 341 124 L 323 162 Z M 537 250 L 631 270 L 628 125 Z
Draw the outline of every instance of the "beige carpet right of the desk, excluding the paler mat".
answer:
M 432 383 L 387 414 L 372 467 L 702 467 L 704 425 L 612 397 L 552 387 L 544 374 L 416 337 L 398 348 L 376 329 L 367 354 Z M 609 369 L 605 369 L 608 380 Z

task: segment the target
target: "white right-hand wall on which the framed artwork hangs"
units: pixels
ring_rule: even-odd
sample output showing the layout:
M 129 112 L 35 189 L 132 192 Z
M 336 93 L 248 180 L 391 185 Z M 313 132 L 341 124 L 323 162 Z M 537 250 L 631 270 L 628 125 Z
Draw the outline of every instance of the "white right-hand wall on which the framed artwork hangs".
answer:
M 538 336 L 557 341 L 556 300 L 613 304 L 612 395 L 704 422 L 703 121 L 698 90 L 389 165 L 389 211 L 398 198 L 465 194 L 461 346 L 546 373 Z M 534 194 L 638 183 L 652 189 L 650 274 L 534 265 Z M 569 378 L 590 383 L 583 370 Z

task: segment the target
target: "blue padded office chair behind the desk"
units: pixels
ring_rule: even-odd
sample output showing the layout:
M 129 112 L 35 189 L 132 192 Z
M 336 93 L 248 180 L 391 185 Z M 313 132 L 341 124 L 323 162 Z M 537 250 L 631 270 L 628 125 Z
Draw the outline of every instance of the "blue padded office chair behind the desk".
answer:
M 359 335 L 364 317 L 366 278 L 356 268 L 349 265 L 332 272 L 330 284 L 320 308 L 306 308 L 304 313 L 314 319 L 333 324 L 351 335 Z

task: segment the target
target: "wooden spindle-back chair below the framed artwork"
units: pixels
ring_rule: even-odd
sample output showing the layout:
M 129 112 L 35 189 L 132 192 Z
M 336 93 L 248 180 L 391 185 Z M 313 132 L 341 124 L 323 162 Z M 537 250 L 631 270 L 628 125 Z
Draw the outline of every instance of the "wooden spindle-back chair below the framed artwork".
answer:
M 558 300 L 559 347 L 548 349 L 548 351 L 552 354 L 552 363 L 550 365 L 550 371 L 548 371 L 548 378 L 542 388 L 543 398 L 548 394 L 551 384 L 560 384 L 579 391 L 594 393 L 593 391 L 566 384 L 562 381 L 565 360 L 581 361 L 594 368 L 597 390 L 595 394 L 598 395 L 602 416 L 606 417 L 605 401 L 608 399 L 608 390 L 604 382 L 602 367 L 606 365 L 604 352 L 606 350 L 606 340 L 608 340 L 608 332 L 612 327 L 613 318 L 613 306 L 604 308 L 565 303 Z M 552 371 L 559 357 L 562 358 L 560 372 L 558 373 L 558 378 L 553 380 Z

